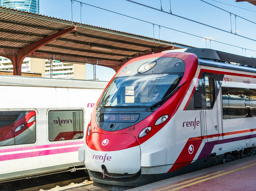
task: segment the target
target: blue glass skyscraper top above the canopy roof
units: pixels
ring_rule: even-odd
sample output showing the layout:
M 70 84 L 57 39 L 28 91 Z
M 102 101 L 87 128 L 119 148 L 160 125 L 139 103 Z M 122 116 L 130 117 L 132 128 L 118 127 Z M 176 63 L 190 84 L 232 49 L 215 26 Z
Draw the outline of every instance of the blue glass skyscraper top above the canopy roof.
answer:
M 0 5 L 6 8 L 39 14 L 39 0 L 0 0 L 0 2 Z

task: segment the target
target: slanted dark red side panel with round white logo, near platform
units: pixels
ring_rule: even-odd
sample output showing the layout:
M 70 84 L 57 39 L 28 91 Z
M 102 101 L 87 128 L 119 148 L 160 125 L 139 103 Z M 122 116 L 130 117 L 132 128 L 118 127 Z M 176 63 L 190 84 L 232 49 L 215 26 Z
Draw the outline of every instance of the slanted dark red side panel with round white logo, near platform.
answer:
M 182 149 L 179 157 L 176 159 L 174 162 L 173 166 L 168 172 L 173 172 L 177 169 L 182 168 L 183 166 L 186 166 L 187 164 L 190 164 L 193 159 L 195 158 L 195 155 L 202 143 L 201 137 L 194 137 L 194 138 L 189 138 L 187 140 L 187 143 L 185 144 L 184 148 Z M 191 146 L 193 145 L 193 152 L 191 153 Z M 189 154 L 189 149 L 190 153 Z

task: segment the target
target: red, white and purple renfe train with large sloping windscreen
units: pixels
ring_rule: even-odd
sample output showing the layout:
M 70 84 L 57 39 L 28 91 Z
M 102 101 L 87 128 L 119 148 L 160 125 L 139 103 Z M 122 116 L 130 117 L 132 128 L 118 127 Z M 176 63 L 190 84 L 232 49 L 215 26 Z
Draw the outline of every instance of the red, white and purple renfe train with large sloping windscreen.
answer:
M 256 153 L 256 59 L 206 48 L 124 64 L 79 148 L 94 185 L 125 190 Z

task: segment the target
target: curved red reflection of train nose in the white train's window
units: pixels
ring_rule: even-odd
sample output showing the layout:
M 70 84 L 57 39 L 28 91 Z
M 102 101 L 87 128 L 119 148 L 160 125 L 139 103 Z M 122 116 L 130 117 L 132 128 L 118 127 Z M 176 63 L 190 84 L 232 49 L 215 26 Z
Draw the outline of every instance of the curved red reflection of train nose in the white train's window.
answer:
M 13 139 L 13 138 L 17 137 L 19 134 L 23 133 L 29 127 L 31 127 L 35 123 L 35 121 L 33 121 L 31 123 L 27 123 L 27 121 L 34 115 L 35 115 L 35 111 L 30 111 L 28 114 L 26 114 L 24 117 L 22 117 L 18 121 L 14 122 L 10 125 L 7 125 L 5 127 L 1 127 L 0 128 L 0 141 Z M 15 129 L 18 126 L 23 125 L 23 124 L 24 124 L 24 127 L 21 130 L 15 132 Z

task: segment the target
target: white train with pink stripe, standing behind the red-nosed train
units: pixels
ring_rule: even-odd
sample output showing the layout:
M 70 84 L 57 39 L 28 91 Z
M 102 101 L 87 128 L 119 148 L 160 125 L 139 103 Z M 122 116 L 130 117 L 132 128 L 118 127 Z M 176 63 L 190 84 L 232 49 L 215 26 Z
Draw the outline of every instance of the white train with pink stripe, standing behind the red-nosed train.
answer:
M 83 168 L 78 149 L 106 85 L 0 75 L 0 182 Z

